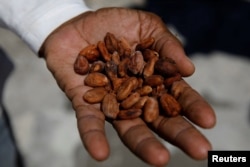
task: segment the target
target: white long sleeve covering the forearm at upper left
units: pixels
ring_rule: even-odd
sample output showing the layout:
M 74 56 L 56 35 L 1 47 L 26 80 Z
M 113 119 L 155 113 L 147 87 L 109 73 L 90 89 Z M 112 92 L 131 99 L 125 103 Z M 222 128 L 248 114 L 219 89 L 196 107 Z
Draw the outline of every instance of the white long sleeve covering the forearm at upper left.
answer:
M 2 0 L 0 24 L 37 53 L 54 29 L 87 10 L 83 0 Z

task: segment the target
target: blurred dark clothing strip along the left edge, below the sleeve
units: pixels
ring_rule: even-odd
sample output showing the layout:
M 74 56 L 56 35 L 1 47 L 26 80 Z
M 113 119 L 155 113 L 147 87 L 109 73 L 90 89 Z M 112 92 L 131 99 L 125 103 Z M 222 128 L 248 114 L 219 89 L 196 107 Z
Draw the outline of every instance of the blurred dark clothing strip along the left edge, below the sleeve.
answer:
M 0 167 L 23 167 L 23 161 L 3 105 L 4 84 L 14 65 L 0 48 Z

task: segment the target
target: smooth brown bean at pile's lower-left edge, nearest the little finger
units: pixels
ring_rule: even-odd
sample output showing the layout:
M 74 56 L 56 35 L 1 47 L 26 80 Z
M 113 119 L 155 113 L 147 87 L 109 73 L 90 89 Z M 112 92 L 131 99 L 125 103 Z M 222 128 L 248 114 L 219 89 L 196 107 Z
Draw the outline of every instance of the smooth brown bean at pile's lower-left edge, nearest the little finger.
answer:
M 107 93 L 108 91 L 104 87 L 97 87 L 85 92 L 83 99 L 90 104 L 100 103 Z

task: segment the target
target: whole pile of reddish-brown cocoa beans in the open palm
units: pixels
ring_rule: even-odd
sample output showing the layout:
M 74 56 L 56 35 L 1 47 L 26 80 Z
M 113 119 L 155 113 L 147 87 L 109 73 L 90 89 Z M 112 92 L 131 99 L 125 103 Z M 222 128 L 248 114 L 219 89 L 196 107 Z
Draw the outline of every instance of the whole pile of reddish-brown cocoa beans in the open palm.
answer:
M 149 37 L 132 48 L 124 37 L 108 32 L 83 48 L 74 63 L 74 71 L 86 75 L 83 84 L 91 87 L 83 100 L 100 103 L 108 119 L 141 117 L 150 123 L 159 115 L 179 115 L 181 106 L 169 89 L 181 75 L 173 59 L 152 49 L 154 43 Z

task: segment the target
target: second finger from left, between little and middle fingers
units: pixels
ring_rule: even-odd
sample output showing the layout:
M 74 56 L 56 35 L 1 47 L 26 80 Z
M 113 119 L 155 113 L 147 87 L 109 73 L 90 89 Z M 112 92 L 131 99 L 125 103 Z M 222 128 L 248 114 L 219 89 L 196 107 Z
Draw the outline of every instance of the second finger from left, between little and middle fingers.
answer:
M 140 119 L 116 120 L 113 126 L 124 144 L 143 161 L 154 166 L 165 165 L 169 153 Z

